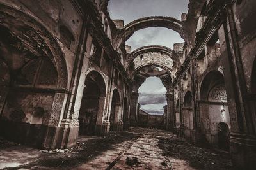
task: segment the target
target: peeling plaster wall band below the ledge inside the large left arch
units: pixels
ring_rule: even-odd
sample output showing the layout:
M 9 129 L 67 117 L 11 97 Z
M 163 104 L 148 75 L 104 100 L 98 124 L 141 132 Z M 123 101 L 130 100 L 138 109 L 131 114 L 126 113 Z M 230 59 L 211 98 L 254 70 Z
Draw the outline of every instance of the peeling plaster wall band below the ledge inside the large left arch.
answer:
M 54 94 L 10 92 L 2 117 L 13 122 L 47 125 L 53 98 Z

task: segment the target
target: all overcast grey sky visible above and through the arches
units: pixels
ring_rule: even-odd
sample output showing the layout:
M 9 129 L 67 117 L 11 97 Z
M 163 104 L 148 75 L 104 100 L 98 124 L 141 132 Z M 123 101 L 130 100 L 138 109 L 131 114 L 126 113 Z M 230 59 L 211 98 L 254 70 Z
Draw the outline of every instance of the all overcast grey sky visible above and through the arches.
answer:
M 189 0 L 109 0 L 108 11 L 112 20 L 122 19 L 124 24 L 150 16 L 168 16 L 181 19 L 188 12 Z M 173 43 L 184 42 L 180 35 L 163 27 L 150 27 L 134 32 L 126 42 L 132 50 L 147 45 L 163 45 L 173 49 Z M 141 109 L 148 113 L 163 114 L 166 89 L 156 77 L 147 78 L 139 89 Z

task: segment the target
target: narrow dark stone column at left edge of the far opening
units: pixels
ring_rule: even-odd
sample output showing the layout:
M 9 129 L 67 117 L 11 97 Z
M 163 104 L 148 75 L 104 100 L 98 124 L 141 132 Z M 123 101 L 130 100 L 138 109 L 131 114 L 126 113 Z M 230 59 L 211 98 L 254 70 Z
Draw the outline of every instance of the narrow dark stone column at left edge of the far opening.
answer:
M 138 97 L 137 92 L 132 92 L 131 94 L 131 110 L 130 110 L 130 125 L 136 127 L 137 125 L 137 115 L 138 115 Z

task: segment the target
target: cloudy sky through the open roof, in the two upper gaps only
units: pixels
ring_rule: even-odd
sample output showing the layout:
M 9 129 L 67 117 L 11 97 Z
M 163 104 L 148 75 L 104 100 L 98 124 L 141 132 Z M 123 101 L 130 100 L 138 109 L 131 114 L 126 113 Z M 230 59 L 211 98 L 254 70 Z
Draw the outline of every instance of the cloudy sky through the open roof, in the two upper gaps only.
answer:
M 150 16 L 168 16 L 181 19 L 188 12 L 189 0 L 109 0 L 108 11 L 111 19 L 122 19 L 124 24 Z M 163 27 L 150 27 L 134 32 L 126 45 L 132 50 L 147 45 L 163 45 L 173 49 L 173 43 L 184 40 L 180 35 Z

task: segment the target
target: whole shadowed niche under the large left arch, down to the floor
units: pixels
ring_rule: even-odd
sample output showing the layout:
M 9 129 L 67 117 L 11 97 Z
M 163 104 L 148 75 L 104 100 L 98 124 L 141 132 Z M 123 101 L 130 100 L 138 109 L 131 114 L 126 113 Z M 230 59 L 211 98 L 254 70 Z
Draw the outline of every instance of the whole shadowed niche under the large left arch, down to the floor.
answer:
M 1 106 L 1 134 L 12 141 L 42 147 L 56 99 L 56 67 L 48 57 L 38 57 L 20 69 L 9 69 L 11 81 L 3 87 L 8 95 Z

